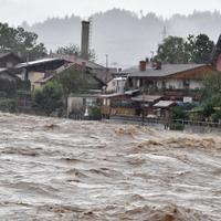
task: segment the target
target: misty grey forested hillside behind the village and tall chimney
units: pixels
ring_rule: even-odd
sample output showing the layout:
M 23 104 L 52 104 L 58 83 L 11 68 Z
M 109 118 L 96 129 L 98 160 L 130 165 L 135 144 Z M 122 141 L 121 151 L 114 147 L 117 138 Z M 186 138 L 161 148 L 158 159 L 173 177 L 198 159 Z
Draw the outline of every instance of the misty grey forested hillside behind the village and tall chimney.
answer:
M 190 15 L 175 14 L 170 19 L 162 19 L 155 13 L 138 15 L 134 12 L 113 9 L 92 15 L 91 45 L 97 54 L 97 62 L 105 63 L 105 54 L 109 55 L 109 63 L 133 65 L 138 60 L 150 56 L 162 41 L 164 27 L 168 35 L 187 36 L 188 34 L 206 33 L 217 42 L 221 33 L 221 13 L 197 12 Z M 65 17 L 48 19 L 32 27 L 24 28 L 39 34 L 39 40 L 49 50 L 71 43 L 80 45 L 81 18 Z

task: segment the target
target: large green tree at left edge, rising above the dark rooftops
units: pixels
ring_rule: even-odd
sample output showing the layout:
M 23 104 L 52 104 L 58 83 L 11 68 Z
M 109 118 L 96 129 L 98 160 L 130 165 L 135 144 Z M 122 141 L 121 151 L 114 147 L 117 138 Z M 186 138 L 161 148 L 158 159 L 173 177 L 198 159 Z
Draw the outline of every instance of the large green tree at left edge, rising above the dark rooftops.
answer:
M 43 43 L 38 43 L 38 34 L 23 28 L 11 28 L 0 23 L 0 52 L 12 51 L 24 60 L 34 60 L 46 55 Z

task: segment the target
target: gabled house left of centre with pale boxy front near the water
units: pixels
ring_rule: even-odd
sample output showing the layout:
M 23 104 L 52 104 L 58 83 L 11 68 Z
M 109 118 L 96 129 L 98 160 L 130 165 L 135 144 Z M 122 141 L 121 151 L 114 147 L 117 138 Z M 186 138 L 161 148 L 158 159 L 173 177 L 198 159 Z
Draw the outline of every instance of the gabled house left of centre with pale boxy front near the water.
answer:
M 70 117 L 83 117 L 85 112 L 88 112 L 90 115 L 91 109 L 98 105 L 99 94 L 106 86 L 95 74 L 85 70 L 84 66 L 71 63 L 63 70 L 61 67 L 56 70 L 54 75 L 35 82 L 35 87 L 36 84 L 40 87 L 55 77 L 61 82 L 69 80 L 69 91 L 72 91 L 66 99 L 67 116 Z

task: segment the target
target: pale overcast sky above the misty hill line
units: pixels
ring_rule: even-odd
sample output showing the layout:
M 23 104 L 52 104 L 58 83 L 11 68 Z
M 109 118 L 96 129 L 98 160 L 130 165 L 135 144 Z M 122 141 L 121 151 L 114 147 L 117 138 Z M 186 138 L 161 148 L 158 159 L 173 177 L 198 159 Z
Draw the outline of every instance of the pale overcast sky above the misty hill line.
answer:
M 113 8 L 127 9 L 139 13 L 156 12 L 170 17 L 173 13 L 189 14 L 199 11 L 221 10 L 221 0 L 0 0 L 0 21 L 19 24 L 43 21 L 49 17 L 76 14 L 83 18 L 97 11 Z

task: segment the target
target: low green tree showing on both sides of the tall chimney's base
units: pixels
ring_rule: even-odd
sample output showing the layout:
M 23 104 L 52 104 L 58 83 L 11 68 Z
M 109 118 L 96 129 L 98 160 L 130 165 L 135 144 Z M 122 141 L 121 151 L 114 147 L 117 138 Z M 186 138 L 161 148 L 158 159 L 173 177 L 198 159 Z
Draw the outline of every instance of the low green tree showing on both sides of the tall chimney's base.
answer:
M 55 53 L 57 54 L 66 54 L 66 55 L 76 55 L 81 57 L 81 50 L 80 46 L 75 45 L 75 44 L 70 44 L 67 46 L 60 46 Z M 90 61 L 96 61 L 96 53 L 95 51 L 92 49 L 88 51 L 88 60 Z

